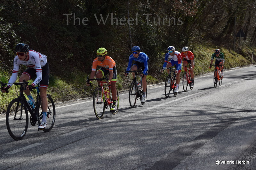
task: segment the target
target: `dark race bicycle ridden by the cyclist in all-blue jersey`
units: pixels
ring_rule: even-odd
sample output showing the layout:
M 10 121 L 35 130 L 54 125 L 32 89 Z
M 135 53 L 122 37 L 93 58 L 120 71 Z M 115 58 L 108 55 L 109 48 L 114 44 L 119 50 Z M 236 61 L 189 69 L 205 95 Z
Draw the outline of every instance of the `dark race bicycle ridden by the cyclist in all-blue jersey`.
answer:
M 134 73 L 134 78 L 132 80 L 132 83 L 130 85 L 129 90 L 129 103 L 131 108 L 134 108 L 135 103 L 140 98 L 140 103 L 145 104 L 145 102 L 141 102 L 142 96 L 143 96 L 143 84 L 142 84 L 142 71 L 125 71 L 125 72 L 132 72 Z M 140 76 L 140 81 L 137 81 L 137 76 Z M 148 88 L 146 89 L 146 99 L 148 94 Z

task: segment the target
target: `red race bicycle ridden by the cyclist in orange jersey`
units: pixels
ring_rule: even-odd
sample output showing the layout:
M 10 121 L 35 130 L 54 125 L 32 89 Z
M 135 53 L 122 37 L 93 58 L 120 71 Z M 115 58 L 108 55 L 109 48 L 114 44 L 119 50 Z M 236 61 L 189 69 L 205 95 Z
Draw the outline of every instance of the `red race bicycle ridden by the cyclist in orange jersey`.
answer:
M 96 79 L 89 79 L 87 78 L 87 84 L 89 83 L 90 80 L 97 80 L 99 86 L 96 87 L 96 89 L 94 90 L 94 94 L 93 94 L 93 110 L 95 113 L 95 116 L 98 119 L 101 119 L 105 113 L 105 109 L 109 108 L 111 109 L 112 104 L 113 104 L 113 96 L 112 96 L 112 91 L 111 91 L 111 86 L 104 86 L 104 83 L 107 83 L 108 78 L 96 78 Z M 103 81 L 106 80 L 106 81 Z M 112 96 L 112 97 L 111 97 Z M 115 115 L 118 111 L 119 108 L 119 95 L 118 95 L 118 91 L 116 89 L 116 110 L 112 111 L 110 110 L 110 112 Z

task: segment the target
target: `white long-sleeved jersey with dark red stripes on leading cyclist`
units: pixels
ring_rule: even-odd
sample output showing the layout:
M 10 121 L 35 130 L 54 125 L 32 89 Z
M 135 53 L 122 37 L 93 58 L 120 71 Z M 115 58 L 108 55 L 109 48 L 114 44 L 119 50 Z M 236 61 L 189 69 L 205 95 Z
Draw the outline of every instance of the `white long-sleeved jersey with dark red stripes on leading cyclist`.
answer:
M 13 70 L 12 76 L 8 83 L 14 83 L 17 79 L 20 64 L 36 69 L 36 80 L 32 83 L 33 86 L 36 86 L 42 80 L 42 67 L 47 63 L 47 56 L 41 53 L 38 53 L 34 50 L 29 50 L 28 58 L 24 60 L 20 60 L 18 55 L 15 56 L 13 61 Z M 8 84 L 8 86 L 12 86 Z

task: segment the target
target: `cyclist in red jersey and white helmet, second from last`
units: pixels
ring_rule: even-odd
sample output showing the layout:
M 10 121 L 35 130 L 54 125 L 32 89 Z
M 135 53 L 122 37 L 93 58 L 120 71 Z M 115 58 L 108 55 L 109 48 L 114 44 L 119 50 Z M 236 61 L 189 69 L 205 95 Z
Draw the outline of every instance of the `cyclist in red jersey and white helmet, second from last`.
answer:
M 183 60 L 183 70 L 185 70 L 184 66 L 187 66 L 188 64 L 191 65 L 191 87 L 194 87 L 194 65 L 195 65 L 195 61 L 194 61 L 194 54 L 191 51 L 188 51 L 188 47 L 184 46 L 182 48 L 182 52 L 181 52 L 181 58 L 184 59 Z

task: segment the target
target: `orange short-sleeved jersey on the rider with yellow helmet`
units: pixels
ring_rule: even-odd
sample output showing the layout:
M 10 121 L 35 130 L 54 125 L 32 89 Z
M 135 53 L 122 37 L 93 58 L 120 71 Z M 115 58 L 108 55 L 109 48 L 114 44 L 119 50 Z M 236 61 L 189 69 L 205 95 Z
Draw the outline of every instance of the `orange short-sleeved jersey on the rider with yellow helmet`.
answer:
M 106 56 L 103 62 L 99 61 L 97 57 L 92 62 L 92 71 L 96 71 L 97 66 L 100 66 L 106 70 L 113 70 L 113 67 L 116 66 L 116 62 L 109 56 Z

